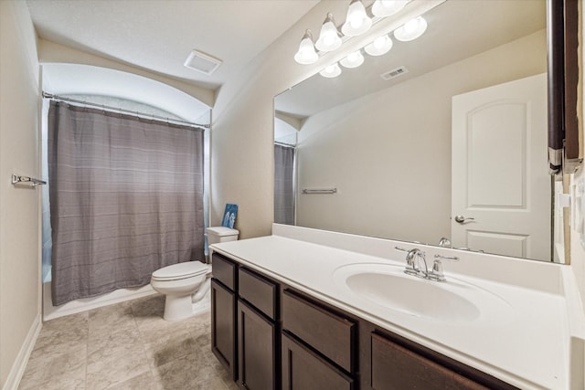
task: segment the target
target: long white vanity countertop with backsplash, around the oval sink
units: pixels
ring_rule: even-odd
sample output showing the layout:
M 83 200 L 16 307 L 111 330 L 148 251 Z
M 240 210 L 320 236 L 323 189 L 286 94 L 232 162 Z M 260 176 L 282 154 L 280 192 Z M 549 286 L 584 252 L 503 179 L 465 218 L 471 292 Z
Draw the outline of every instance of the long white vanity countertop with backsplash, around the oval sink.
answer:
M 286 232 L 287 229 L 276 230 Z M 332 237 L 340 235 L 324 234 Z M 574 279 L 571 279 L 567 267 L 472 252 L 449 253 L 450 249 L 419 245 L 417 248 L 427 251 L 427 261 L 431 263 L 432 250 L 460 257 L 457 263 L 444 264 L 447 283 L 450 278 L 453 283 L 458 279 L 464 280 L 490 291 L 508 304 L 508 309 L 492 312 L 492 318 L 487 321 L 437 321 L 369 304 L 334 279 L 336 269 L 350 264 L 362 264 L 364 267 L 367 264 L 395 264 L 403 267 L 404 254 L 394 250 L 394 246 L 413 248 L 413 244 L 364 237 L 365 241 L 362 240 L 361 244 L 366 244 L 368 249 L 362 251 L 347 249 L 352 247 L 352 240 L 356 245 L 360 244 L 361 238 L 352 235 L 334 237 L 333 241 L 322 240 L 326 245 L 309 242 L 319 239 L 307 241 L 283 236 L 232 241 L 215 244 L 211 248 L 251 269 L 257 269 L 295 289 L 519 388 L 574 389 L 583 385 L 585 325 L 580 301 L 574 298 L 577 294 Z M 338 238 L 341 238 L 339 242 L 344 242 L 343 245 L 330 245 Z M 384 250 L 388 253 L 386 256 L 382 255 Z M 377 251 L 380 256 L 372 255 Z M 482 261 L 482 258 L 491 261 Z M 510 263 L 506 269 L 507 261 L 516 263 Z M 518 262 L 522 262 L 522 267 L 516 269 Z M 518 269 L 521 269 L 519 274 Z M 478 277 L 483 274 L 488 278 Z M 548 280 L 534 280 L 539 278 Z M 514 279 L 518 283 L 513 282 Z M 543 287 L 539 288 L 539 285 Z

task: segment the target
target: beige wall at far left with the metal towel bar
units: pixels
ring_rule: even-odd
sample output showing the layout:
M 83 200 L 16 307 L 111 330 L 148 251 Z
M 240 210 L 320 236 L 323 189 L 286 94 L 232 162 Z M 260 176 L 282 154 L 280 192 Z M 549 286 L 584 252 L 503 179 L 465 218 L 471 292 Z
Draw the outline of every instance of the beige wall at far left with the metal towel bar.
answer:
M 38 189 L 16 188 L 11 174 L 37 176 L 38 62 L 27 4 L 0 1 L 0 385 L 40 319 Z M 24 356 L 23 356 L 24 354 Z M 26 363 L 26 361 L 25 361 Z

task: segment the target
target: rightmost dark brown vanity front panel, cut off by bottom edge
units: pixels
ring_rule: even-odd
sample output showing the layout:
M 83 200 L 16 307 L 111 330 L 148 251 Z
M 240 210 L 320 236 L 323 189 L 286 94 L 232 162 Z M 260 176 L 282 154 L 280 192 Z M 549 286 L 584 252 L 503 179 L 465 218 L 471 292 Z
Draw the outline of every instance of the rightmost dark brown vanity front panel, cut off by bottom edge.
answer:
M 376 390 L 487 390 L 473 380 L 372 333 L 372 388 Z

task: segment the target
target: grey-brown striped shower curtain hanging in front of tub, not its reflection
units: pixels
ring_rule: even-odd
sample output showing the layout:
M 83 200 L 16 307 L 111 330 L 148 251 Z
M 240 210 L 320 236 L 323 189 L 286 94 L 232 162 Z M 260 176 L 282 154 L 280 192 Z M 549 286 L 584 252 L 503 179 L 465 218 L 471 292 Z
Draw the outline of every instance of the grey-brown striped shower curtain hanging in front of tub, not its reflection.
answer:
M 204 260 L 203 130 L 51 101 L 54 305 Z

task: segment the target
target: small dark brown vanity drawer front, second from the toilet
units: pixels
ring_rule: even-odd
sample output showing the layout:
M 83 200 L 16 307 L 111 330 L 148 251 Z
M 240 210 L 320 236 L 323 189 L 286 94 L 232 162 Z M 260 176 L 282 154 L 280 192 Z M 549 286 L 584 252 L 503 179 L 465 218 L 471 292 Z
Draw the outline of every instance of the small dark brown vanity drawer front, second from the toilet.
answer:
M 247 300 L 272 320 L 276 320 L 277 285 L 249 269 L 238 270 L 239 297 Z

